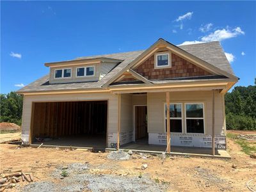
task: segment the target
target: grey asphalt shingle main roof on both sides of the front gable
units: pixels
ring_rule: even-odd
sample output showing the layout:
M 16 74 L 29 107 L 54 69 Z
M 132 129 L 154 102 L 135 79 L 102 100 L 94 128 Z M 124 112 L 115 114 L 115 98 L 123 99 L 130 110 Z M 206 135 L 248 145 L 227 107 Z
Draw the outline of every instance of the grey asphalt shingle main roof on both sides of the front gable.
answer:
M 191 44 L 191 45 L 181 45 L 178 46 L 190 54 L 204 60 L 215 67 L 220 68 L 230 74 L 234 74 L 230 63 L 221 48 L 220 42 L 209 42 L 204 44 Z M 131 51 L 131 52 L 121 52 L 115 54 L 103 54 L 97 56 L 86 56 L 81 58 L 76 58 L 76 60 L 85 60 L 92 58 L 113 58 L 117 60 L 123 60 L 119 65 L 113 68 L 106 76 L 104 76 L 100 81 L 97 82 L 83 82 L 83 83 L 61 83 L 61 84 L 49 84 L 49 75 L 44 76 L 33 83 L 24 86 L 19 92 L 41 92 L 41 91 L 57 91 L 57 90 L 82 90 L 82 89 L 92 89 L 100 88 L 106 84 L 113 76 L 118 74 L 122 69 L 127 67 L 129 63 L 138 58 L 140 54 L 144 51 Z

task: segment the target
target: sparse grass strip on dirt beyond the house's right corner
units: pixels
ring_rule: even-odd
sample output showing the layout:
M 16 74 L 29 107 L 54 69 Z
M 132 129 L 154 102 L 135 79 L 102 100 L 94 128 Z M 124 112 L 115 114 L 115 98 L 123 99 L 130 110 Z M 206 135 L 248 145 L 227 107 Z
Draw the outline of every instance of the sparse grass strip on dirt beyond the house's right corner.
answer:
M 252 143 L 250 143 L 249 141 L 237 138 L 237 134 L 228 132 L 227 133 L 227 138 L 230 138 L 231 140 L 234 140 L 238 145 L 240 145 L 241 148 L 242 148 L 242 151 L 245 154 L 247 154 L 248 156 L 250 156 L 251 154 L 256 153 L 256 147 L 255 146 L 250 146 L 250 144 L 252 144 Z

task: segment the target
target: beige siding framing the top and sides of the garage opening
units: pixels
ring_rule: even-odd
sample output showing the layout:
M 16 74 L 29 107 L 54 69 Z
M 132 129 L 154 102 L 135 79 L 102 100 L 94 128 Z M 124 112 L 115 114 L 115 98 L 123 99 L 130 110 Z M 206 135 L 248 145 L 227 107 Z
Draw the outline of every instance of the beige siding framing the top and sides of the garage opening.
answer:
M 117 132 L 118 99 L 116 95 L 111 93 L 74 93 L 63 95 L 24 95 L 24 109 L 22 112 L 22 134 L 29 134 L 32 102 L 77 100 L 108 100 L 108 132 Z

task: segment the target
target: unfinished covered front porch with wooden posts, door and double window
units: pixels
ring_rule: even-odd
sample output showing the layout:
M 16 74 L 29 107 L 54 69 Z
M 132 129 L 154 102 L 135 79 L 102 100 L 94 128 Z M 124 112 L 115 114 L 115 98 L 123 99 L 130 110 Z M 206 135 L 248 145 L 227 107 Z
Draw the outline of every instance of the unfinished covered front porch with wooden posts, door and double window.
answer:
M 230 157 L 221 90 L 118 93 L 116 136 L 118 150 Z

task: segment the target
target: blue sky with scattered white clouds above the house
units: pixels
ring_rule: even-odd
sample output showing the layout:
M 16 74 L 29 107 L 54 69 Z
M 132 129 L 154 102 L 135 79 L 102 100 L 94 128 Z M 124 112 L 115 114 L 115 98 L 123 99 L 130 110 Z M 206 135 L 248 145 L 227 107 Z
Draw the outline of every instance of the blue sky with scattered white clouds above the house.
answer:
M 79 56 L 220 40 L 237 77 L 256 77 L 253 1 L 1 1 L 1 93 Z

